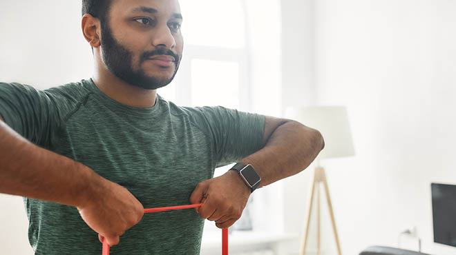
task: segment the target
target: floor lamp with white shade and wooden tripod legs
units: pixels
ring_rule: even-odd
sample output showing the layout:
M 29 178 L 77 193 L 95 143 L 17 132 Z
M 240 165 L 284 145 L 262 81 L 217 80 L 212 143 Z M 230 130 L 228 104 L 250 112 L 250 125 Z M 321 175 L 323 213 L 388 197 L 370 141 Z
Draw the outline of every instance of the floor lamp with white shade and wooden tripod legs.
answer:
M 325 198 L 330 214 L 337 252 L 341 255 L 341 245 L 337 234 L 334 211 L 332 210 L 330 191 L 327 185 L 325 169 L 321 167 L 320 160 L 354 155 L 352 134 L 350 132 L 350 125 L 348 125 L 347 110 L 343 106 L 287 108 L 285 116 L 287 116 L 288 119 L 294 119 L 309 126 L 310 128 L 319 130 L 325 139 L 325 149 L 320 152 L 318 158 L 316 159 L 316 167 L 310 181 L 306 208 L 307 212 L 305 215 L 305 225 L 303 229 L 303 236 L 301 238 L 299 255 L 305 255 L 307 252 L 306 248 L 309 236 L 310 216 L 315 202 L 314 196 L 316 196 L 316 254 L 320 255 L 321 253 L 321 185 L 323 185 L 325 190 Z

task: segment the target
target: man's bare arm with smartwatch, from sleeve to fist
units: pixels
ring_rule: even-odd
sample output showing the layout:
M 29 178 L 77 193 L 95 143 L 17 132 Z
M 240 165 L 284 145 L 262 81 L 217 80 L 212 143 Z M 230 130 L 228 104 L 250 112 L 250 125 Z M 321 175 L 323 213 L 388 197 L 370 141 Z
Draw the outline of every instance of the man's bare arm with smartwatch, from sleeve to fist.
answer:
M 241 160 L 254 166 L 262 181 L 260 187 L 303 171 L 324 147 L 320 132 L 296 121 L 266 117 L 263 149 Z M 227 228 L 240 218 L 251 190 L 235 171 L 198 184 L 191 203 L 204 203 L 196 209 L 201 218 Z

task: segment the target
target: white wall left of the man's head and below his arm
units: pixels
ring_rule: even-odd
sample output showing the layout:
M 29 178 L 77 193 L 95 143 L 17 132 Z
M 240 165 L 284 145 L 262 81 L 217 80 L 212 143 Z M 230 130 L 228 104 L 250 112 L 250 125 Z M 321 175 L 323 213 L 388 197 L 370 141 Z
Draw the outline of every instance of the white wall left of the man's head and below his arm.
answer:
M 45 89 L 88 79 L 92 52 L 75 32 L 80 20 L 80 1 L 2 0 L 0 81 Z M 27 227 L 22 198 L 0 194 L 0 254 L 33 254 Z

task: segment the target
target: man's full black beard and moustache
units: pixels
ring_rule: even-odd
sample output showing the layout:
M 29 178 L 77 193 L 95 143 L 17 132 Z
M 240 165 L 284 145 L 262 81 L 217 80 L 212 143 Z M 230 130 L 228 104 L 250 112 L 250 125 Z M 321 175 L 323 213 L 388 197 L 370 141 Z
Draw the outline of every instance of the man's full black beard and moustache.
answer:
M 122 79 L 122 81 L 146 90 L 156 90 L 173 81 L 175 74 L 178 72 L 181 59 L 178 54 L 175 54 L 171 50 L 158 48 L 157 50 L 143 52 L 140 56 L 138 66 L 154 55 L 170 55 L 174 57 L 175 68 L 173 75 L 170 78 L 159 79 L 154 76 L 149 76 L 141 68 L 133 70 L 133 53 L 113 37 L 111 28 L 107 23 L 108 22 L 104 22 L 105 25 L 102 25 L 101 44 L 102 59 L 109 71 L 117 76 L 117 78 Z

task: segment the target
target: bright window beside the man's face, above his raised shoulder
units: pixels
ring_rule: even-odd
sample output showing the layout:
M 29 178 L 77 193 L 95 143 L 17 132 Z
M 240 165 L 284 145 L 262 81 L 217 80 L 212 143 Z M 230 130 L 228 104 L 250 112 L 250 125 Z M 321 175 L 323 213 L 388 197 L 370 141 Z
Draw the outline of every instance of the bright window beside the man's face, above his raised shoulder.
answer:
M 175 81 L 158 93 L 178 105 L 249 111 L 242 0 L 181 0 L 184 52 Z M 240 96 L 243 95 L 243 96 Z

